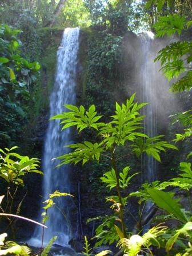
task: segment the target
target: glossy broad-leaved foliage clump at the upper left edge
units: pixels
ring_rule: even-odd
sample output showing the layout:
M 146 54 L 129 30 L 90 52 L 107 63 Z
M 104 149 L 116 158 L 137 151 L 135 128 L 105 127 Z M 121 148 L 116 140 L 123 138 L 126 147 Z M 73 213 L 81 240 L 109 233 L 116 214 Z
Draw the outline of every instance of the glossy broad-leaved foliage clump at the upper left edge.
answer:
M 5 91 L 10 101 L 14 101 L 19 93 L 26 94 L 28 92 L 31 82 L 37 79 L 35 75 L 41 67 L 39 63 L 30 63 L 21 57 L 19 50 L 21 42 L 17 38 L 17 34 L 20 32 L 21 30 L 13 30 L 8 25 L 1 25 L 0 27 L 2 53 L 0 59 L 0 96 L 2 97 L 2 92 Z

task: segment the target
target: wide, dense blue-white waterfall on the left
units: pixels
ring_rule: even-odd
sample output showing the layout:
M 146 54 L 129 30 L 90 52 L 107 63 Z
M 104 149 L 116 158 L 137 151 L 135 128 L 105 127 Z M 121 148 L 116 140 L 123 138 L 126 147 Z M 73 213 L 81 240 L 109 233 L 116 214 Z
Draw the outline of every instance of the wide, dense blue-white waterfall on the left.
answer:
M 79 29 L 65 29 L 61 46 L 57 52 L 57 73 L 55 84 L 50 96 L 50 117 L 65 111 L 65 104 L 75 104 L 75 87 L 77 84 L 79 48 Z M 67 153 L 65 145 L 71 143 L 70 129 L 61 131 L 59 120 L 49 122 L 46 132 L 43 152 L 43 201 L 49 198 L 49 194 L 55 190 L 70 193 L 70 168 L 63 165 L 55 168 L 59 161 L 55 157 Z M 54 159 L 54 160 L 53 160 Z M 71 197 L 60 197 L 56 205 L 48 210 L 49 219 L 46 221 L 44 242 L 57 235 L 55 243 L 66 245 L 72 238 L 70 225 L 70 210 L 73 206 Z M 40 209 L 42 213 L 42 209 Z M 42 217 L 41 217 L 42 219 Z M 34 239 L 41 241 L 42 229 L 37 228 Z

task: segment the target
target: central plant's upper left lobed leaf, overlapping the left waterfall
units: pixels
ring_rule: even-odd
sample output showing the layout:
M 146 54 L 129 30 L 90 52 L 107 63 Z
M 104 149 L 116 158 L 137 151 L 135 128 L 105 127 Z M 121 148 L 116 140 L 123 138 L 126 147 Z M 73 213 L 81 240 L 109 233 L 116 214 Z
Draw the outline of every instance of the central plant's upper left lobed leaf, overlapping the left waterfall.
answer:
M 86 111 L 83 106 L 76 107 L 73 105 L 65 105 L 65 107 L 72 111 L 63 112 L 62 114 L 50 118 L 51 120 L 61 119 L 62 121 L 60 123 L 63 125 L 62 130 L 71 126 L 77 126 L 79 132 L 87 127 L 92 127 L 93 129 L 98 130 L 100 125 L 98 121 L 102 116 L 97 115 L 95 105 L 91 105 L 88 111 Z

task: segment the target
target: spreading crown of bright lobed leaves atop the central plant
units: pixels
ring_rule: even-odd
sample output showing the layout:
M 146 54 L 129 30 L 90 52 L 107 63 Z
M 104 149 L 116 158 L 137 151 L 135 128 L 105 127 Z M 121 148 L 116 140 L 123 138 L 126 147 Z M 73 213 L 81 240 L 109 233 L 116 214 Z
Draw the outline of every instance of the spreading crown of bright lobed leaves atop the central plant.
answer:
M 101 115 L 97 115 L 95 106 L 91 105 L 89 110 L 85 111 L 83 106 L 65 105 L 67 109 L 72 111 L 64 112 L 55 115 L 51 119 L 61 119 L 62 130 L 71 126 L 76 126 L 78 131 L 91 128 L 97 131 L 100 142 L 91 143 L 85 141 L 83 143 L 67 145 L 70 149 L 74 149 L 69 154 L 58 157 L 62 160 L 61 164 L 78 163 L 84 164 L 89 160 L 96 159 L 99 161 L 101 155 L 109 151 L 108 158 L 112 159 L 115 150 L 119 146 L 125 146 L 126 143 L 132 142 L 130 147 L 133 147 L 133 153 L 139 157 L 141 153 L 146 152 L 158 161 L 161 161 L 159 153 L 165 151 L 166 148 L 177 149 L 174 145 L 166 141 L 161 141 L 162 136 L 148 138 L 141 132 L 143 116 L 139 114 L 139 110 L 146 103 L 134 103 L 135 94 L 130 99 L 127 99 L 126 104 L 118 103 L 115 105 L 115 114 L 111 116 L 112 120 L 109 123 L 98 122 Z M 146 138 L 145 140 L 142 138 Z

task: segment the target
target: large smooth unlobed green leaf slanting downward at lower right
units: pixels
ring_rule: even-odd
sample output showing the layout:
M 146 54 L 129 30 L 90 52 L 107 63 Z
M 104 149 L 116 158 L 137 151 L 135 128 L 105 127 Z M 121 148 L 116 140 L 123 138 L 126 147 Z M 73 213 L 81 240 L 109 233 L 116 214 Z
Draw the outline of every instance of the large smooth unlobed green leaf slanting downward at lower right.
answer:
M 176 199 L 173 199 L 173 193 L 164 192 L 157 189 L 147 189 L 152 201 L 161 209 L 173 214 L 179 221 L 186 223 L 187 218 L 182 212 L 181 206 Z

